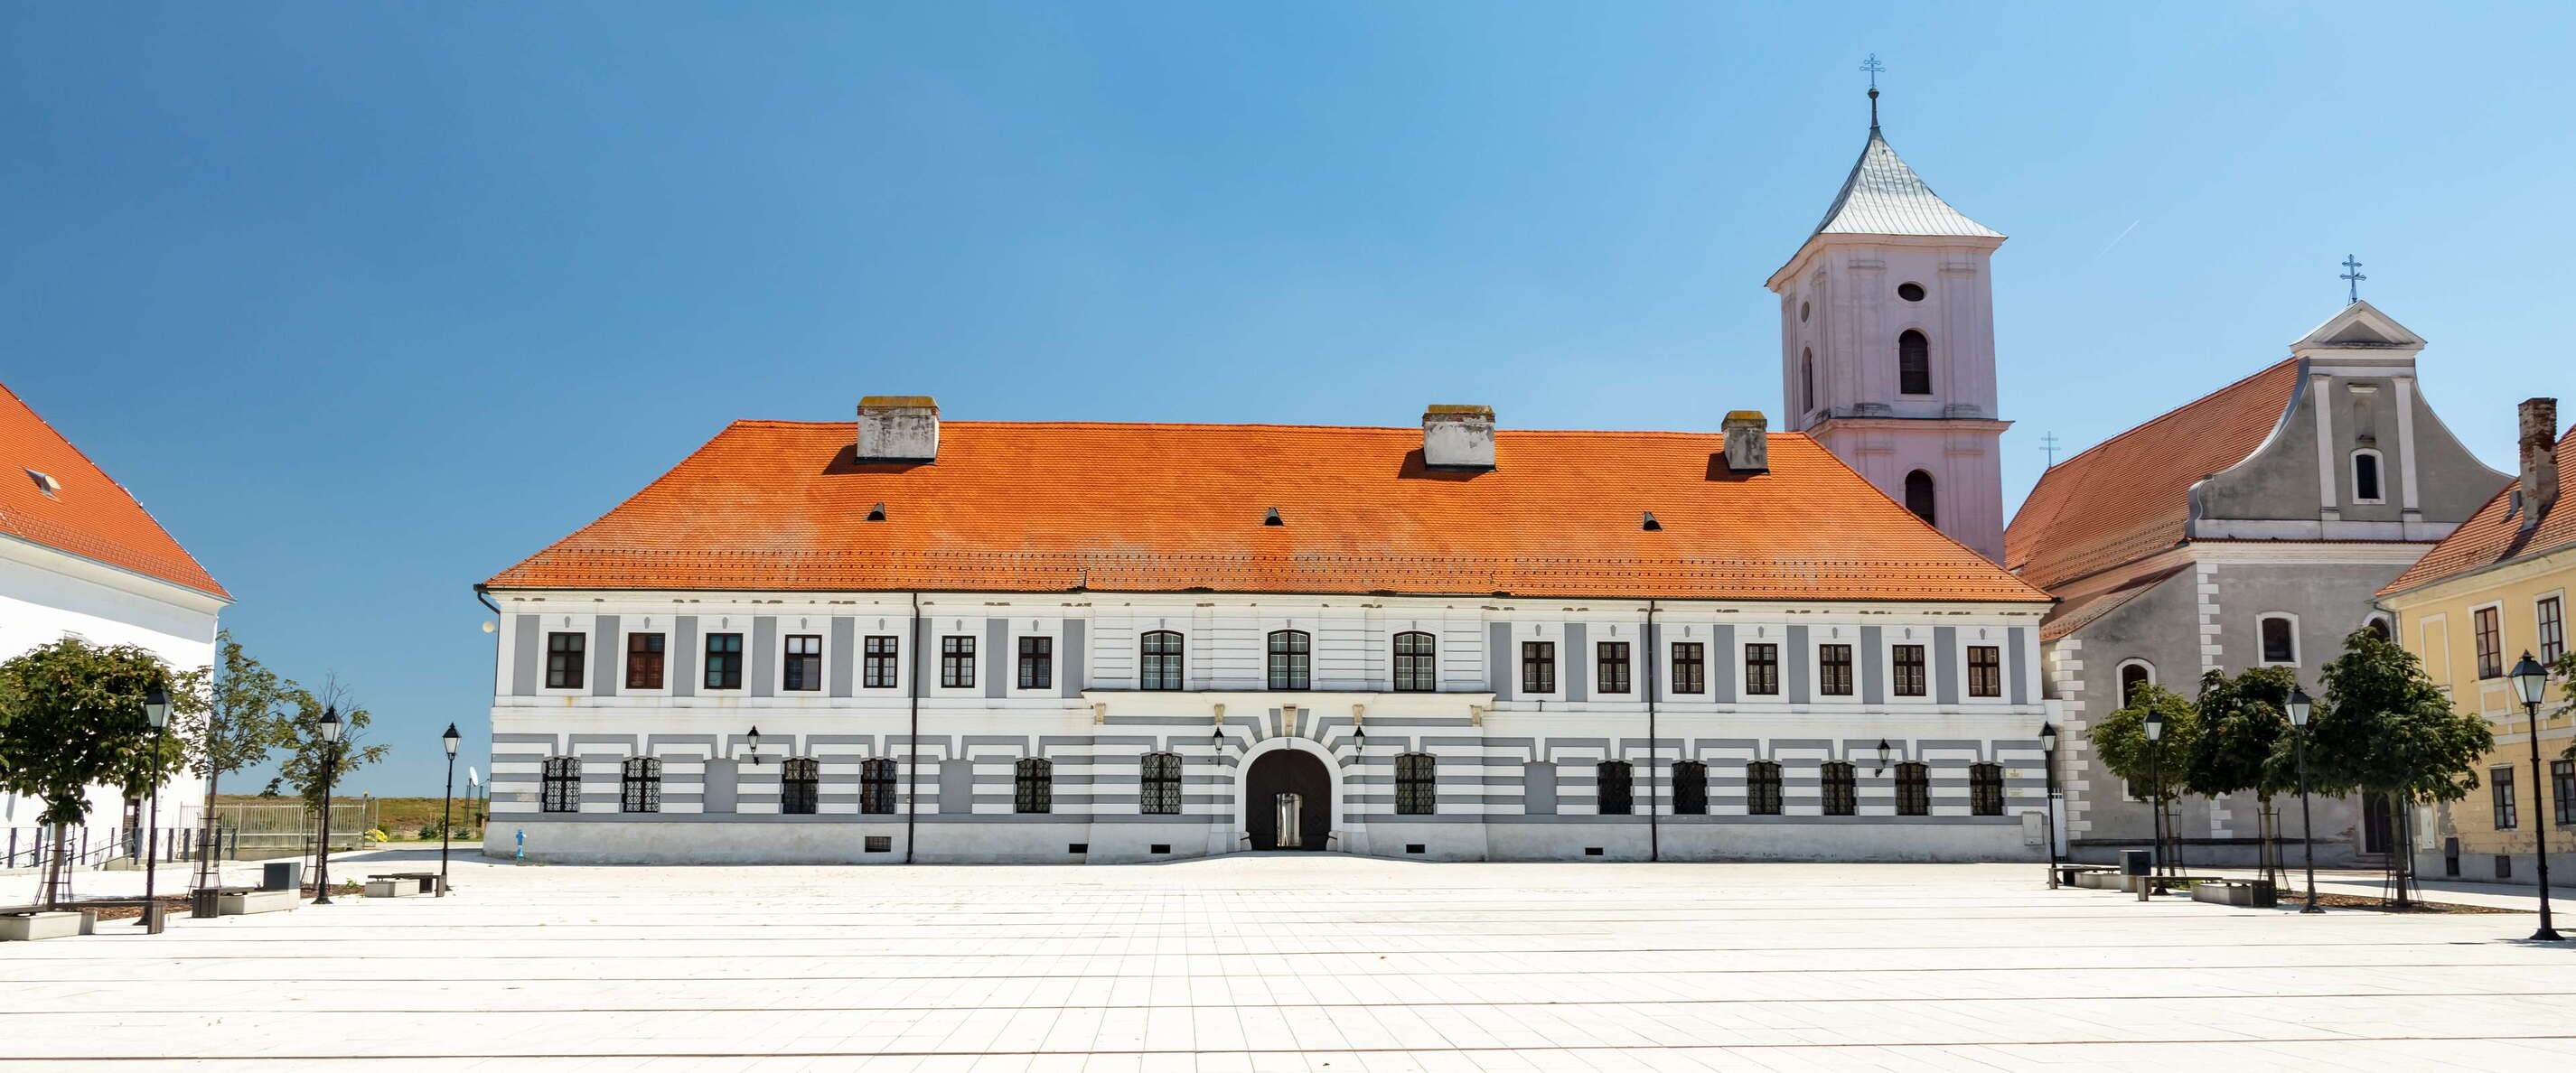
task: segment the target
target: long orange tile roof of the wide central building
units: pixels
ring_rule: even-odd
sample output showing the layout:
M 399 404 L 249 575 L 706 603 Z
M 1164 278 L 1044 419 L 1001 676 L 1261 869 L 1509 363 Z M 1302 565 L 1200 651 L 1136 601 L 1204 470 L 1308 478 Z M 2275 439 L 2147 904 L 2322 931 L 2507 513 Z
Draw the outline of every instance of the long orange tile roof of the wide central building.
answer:
M 1703 432 L 1502 430 L 1486 473 L 1425 471 L 1409 427 L 943 422 L 930 466 L 850 443 L 734 422 L 487 584 L 2048 600 L 1803 435 L 1757 476 Z

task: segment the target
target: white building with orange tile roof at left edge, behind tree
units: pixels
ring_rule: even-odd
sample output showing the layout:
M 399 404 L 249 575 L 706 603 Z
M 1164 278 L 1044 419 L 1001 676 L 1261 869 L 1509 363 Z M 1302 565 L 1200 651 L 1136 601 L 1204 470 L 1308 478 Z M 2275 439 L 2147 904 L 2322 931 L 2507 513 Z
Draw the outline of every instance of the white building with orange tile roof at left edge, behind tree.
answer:
M 173 669 L 214 661 L 216 615 L 232 594 L 149 512 L 0 386 L 0 659 L 77 636 L 131 643 Z M 196 826 L 201 782 L 183 775 L 162 787 L 160 829 Z M 28 867 L 39 800 L 0 795 L 0 852 Z M 90 818 L 75 836 L 85 862 L 137 847 L 142 803 L 111 787 L 90 793 Z M 170 839 L 183 839 L 173 834 Z

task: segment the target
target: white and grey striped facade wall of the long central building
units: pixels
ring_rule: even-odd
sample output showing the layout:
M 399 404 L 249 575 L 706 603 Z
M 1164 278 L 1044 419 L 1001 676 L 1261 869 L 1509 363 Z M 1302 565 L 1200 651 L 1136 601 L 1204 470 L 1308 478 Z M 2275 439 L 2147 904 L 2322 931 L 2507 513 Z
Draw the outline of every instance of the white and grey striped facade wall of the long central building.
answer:
M 603 592 L 495 589 L 487 852 L 520 836 L 551 862 L 1141 862 L 1252 847 L 1247 772 L 1303 751 L 1329 772 L 1334 852 L 1425 859 L 2045 859 L 2048 718 L 2040 602 L 1649 602 L 1115 592 Z M 1177 690 L 1141 690 L 1149 630 L 1182 638 Z M 1303 690 L 1270 690 L 1267 638 L 1311 641 Z M 742 638 L 742 687 L 708 690 L 706 638 Z M 1399 633 L 1435 638 L 1437 690 L 1396 692 Z M 554 654 L 577 636 L 580 656 Z M 662 636 L 662 687 L 629 687 L 634 636 Z M 819 638 L 814 690 L 786 690 L 788 638 Z M 868 638 L 896 659 L 871 684 Z M 974 684 L 940 684 L 945 638 L 974 638 Z M 1020 638 L 1046 638 L 1020 687 Z M 1638 643 L 1646 641 L 1646 643 Z M 1553 646 L 1553 690 L 1525 684 Z M 1625 643 L 1628 692 L 1600 692 Z M 1698 643 L 1700 687 L 1672 646 Z M 1747 690 L 1747 646 L 1777 646 L 1777 692 Z M 1819 646 L 1852 646 L 1850 695 L 1819 687 Z M 1922 646 L 1922 695 L 1893 654 Z M 1999 672 L 1971 687 L 1971 648 Z M 582 664 L 580 687 L 549 687 Z M 1978 651 L 1976 659 L 1986 659 Z M 801 672 L 811 669 L 806 664 Z M 567 682 L 556 674 L 556 682 Z M 1419 682 L 1417 682 L 1419 684 Z M 757 728 L 757 746 L 752 731 Z M 1886 754 L 1880 754 L 1886 744 Z M 1180 757 L 1180 811 L 1141 805 L 1144 757 Z M 1396 757 L 1430 754 L 1430 813 L 1399 813 Z M 626 800 L 654 759 L 657 800 Z M 819 764 L 811 813 L 786 813 L 788 759 Z M 1051 764 L 1046 813 L 1018 811 L 1023 759 Z M 549 811 L 544 772 L 577 769 Z M 569 762 L 569 764 L 567 764 Z M 863 811 L 860 772 L 894 790 Z M 1633 811 L 1600 808 L 1602 762 L 1633 764 Z M 1677 816 L 1677 762 L 1705 764 L 1705 813 Z M 1777 764 L 1777 816 L 1749 803 Z M 1824 764 L 1855 767 L 1829 816 Z M 1899 816 L 1899 764 L 1929 800 Z M 1991 767 L 1986 767 L 1991 764 Z M 1999 808 L 1976 808 L 1971 775 Z

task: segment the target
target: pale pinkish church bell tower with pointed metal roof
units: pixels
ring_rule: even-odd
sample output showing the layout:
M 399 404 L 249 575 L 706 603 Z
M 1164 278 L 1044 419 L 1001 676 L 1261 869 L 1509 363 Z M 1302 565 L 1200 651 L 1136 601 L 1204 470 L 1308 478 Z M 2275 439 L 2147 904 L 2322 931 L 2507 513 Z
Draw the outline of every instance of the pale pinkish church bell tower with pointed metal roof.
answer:
M 2004 561 L 2012 422 L 1994 409 L 1994 286 L 2004 234 L 1950 208 L 1878 131 L 1780 296 L 1783 427 L 1814 435 L 1953 540 Z

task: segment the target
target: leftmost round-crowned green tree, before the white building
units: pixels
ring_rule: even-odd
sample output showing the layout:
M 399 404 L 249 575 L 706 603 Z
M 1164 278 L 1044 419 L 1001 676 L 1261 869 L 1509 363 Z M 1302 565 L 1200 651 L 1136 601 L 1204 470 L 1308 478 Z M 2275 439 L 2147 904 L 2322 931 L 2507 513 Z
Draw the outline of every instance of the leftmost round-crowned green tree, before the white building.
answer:
M 180 705 L 185 679 L 139 646 L 62 638 L 0 664 L 0 790 L 44 800 L 54 826 L 44 903 L 62 895 L 70 829 L 90 813 L 88 790 L 149 793 L 185 759 L 178 736 L 157 733 L 144 695 L 162 682 Z

